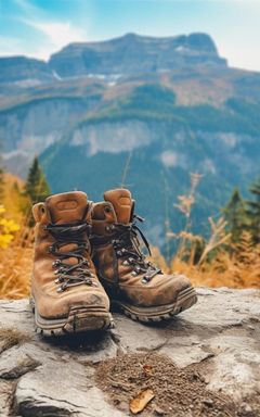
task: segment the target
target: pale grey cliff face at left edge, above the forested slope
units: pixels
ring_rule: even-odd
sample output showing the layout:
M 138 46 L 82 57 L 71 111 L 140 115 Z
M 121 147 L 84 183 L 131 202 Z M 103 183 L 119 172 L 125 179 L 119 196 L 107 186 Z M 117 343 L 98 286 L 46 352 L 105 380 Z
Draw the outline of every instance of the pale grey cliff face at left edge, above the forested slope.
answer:
M 67 135 L 75 119 L 94 108 L 99 98 L 47 98 L 0 112 L 4 164 L 24 177 L 31 157 Z M 1 140 L 2 139 L 2 140 Z

